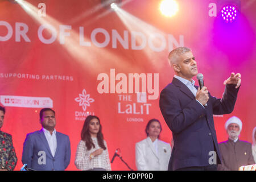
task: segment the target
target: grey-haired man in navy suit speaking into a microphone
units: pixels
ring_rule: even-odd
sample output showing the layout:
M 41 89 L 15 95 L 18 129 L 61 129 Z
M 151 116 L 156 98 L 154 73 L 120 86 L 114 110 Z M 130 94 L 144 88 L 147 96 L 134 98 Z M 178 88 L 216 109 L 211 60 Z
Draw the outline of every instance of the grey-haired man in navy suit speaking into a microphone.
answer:
M 228 114 L 234 109 L 241 75 L 237 73 L 224 81 L 221 99 L 201 90 L 192 80 L 197 64 L 191 49 L 179 47 L 168 56 L 175 76 L 160 93 L 160 110 L 172 131 L 174 148 L 168 170 L 216 170 L 221 163 L 214 129 L 213 114 Z M 207 104 L 207 106 L 206 106 Z

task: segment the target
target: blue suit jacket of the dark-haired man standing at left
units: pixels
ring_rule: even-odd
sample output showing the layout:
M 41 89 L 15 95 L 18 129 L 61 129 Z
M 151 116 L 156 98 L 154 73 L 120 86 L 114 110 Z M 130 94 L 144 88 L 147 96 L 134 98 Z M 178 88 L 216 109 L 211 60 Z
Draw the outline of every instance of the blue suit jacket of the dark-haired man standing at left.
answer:
M 53 157 L 43 129 L 27 134 L 23 144 L 22 163 L 40 171 L 63 171 L 71 158 L 70 141 L 68 135 L 59 132 L 56 132 L 56 138 L 57 148 Z

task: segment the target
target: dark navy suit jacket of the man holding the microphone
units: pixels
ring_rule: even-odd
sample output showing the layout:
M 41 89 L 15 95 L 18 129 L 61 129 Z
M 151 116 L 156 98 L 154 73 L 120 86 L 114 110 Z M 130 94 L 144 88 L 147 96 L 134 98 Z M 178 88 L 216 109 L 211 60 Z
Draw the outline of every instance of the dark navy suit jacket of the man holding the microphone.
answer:
M 209 93 L 206 108 L 195 100 L 193 93 L 177 78 L 173 78 L 171 84 L 162 90 L 160 110 L 174 138 L 169 170 L 208 166 L 209 160 L 221 163 L 213 114 L 233 111 L 238 92 L 235 86 L 226 85 L 222 99 L 212 97 Z M 211 151 L 216 152 L 214 158 L 211 158 L 214 154 Z

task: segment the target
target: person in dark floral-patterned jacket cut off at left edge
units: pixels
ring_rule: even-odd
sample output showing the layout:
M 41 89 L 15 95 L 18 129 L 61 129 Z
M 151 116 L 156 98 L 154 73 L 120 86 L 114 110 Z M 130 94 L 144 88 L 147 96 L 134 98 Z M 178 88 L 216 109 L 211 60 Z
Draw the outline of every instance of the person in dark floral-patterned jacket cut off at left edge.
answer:
M 0 106 L 0 130 L 5 119 L 5 107 Z M 0 171 L 13 171 L 17 163 L 17 156 L 10 134 L 0 131 Z

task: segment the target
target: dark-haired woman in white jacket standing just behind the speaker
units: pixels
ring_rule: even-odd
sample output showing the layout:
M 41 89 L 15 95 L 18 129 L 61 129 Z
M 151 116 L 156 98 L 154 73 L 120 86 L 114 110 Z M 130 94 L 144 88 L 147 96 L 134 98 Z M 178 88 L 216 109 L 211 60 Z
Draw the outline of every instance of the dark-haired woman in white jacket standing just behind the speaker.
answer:
M 167 171 L 171 146 L 158 139 L 162 131 L 159 120 L 148 121 L 145 131 L 147 138 L 135 145 L 137 169 L 139 171 Z

